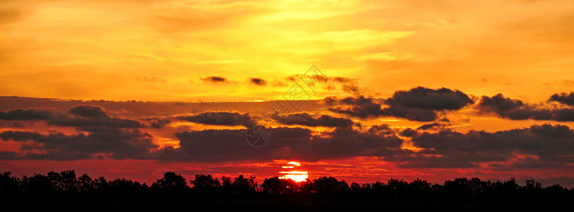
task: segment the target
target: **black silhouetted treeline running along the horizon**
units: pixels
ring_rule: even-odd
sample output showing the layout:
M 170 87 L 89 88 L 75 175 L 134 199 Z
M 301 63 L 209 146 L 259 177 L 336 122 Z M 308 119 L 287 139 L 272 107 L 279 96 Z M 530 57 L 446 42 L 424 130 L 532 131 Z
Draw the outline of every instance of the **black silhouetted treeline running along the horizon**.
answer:
M 151 185 L 130 179 L 108 180 L 84 174 L 76 176 L 74 170 L 48 172 L 47 175 L 14 177 L 11 172 L 0 174 L 0 196 L 65 197 L 94 196 L 99 198 L 185 197 L 212 198 L 214 196 L 256 196 L 260 198 L 320 198 L 345 199 L 345 201 L 376 202 L 490 202 L 494 204 L 568 204 L 574 200 L 574 189 L 558 184 L 542 187 L 534 179 L 525 186 L 514 178 L 506 182 L 483 181 L 478 178 L 457 178 L 444 184 L 431 184 L 416 179 L 406 182 L 390 179 L 388 182 L 348 184 L 334 177 L 319 177 L 307 182 L 272 177 L 258 185 L 255 177 L 221 177 L 195 175 L 188 181 L 174 172 L 166 172 Z

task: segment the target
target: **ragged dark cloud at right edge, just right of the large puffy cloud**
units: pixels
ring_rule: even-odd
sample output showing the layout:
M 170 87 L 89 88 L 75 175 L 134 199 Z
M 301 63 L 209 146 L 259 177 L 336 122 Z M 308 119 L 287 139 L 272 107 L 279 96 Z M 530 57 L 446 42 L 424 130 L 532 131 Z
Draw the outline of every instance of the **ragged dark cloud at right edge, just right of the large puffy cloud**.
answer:
M 574 110 L 571 108 L 539 108 L 528 105 L 521 100 L 505 98 L 502 94 L 493 97 L 483 96 L 478 103 L 478 109 L 482 112 L 494 112 L 500 117 L 522 120 L 556 120 L 559 122 L 574 121 Z

